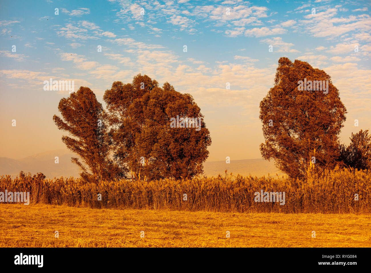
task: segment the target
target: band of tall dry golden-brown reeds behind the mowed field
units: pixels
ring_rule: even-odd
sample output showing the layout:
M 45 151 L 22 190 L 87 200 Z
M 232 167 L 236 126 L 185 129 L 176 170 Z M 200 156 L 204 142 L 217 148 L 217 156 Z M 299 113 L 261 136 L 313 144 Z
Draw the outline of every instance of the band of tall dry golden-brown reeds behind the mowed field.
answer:
M 362 213 L 371 212 L 371 172 L 326 170 L 309 173 L 305 180 L 237 176 L 163 179 L 149 182 L 104 181 L 99 185 L 82 179 L 42 179 L 1 176 L 0 191 L 30 192 L 30 204 L 44 203 L 91 208 L 178 209 L 220 212 Z M 254 193 L 285 192 L 285 205 L 255 202 Z M 102 200 L 98 201 L 98 194 Z M 187 200 L 183 195 L 187 194 Z M 356 201 L 354 195 L 358 194 Z M 9 203 L 6 203 L 9 204 Z

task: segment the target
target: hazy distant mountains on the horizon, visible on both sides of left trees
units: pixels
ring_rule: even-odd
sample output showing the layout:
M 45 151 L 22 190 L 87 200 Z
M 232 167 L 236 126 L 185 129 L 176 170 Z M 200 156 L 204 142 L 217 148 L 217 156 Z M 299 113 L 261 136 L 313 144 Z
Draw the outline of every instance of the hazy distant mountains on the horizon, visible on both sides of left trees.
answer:
M 55 163 L 55 157 L 59 157 L 59 163 Z M 42 172 L 47 178 L 63 177 L 79 177 L 79 168 L 71 162 L 71 157 L 76 157 L 68 150 L 52 150 L 44 153 L 38 153 L 33 156 L 28 156 L 23 159 L 11 159 L 0 157 L 0 175 L 19 175 L 19 172 L 30 172 L 36 174 Z M 231 160 L 230 163 L 225 161 L 213 161 L 204 163 L 204 175 L 224 176 L 225 170 L 233 175 L 240 174 L 243 176 L 276 176 L 276 173 L 282 177 L 280 172 L 274 165 L 273 161 L 269 162 L 263 159 L 243 159 Z

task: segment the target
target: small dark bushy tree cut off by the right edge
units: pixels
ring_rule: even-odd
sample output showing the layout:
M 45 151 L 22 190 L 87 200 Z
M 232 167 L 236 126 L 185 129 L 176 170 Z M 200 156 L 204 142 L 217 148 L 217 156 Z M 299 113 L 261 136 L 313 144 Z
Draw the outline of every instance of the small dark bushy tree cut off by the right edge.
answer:
M 340 145 L 340 160 L 345 165 L 356 169 L 371 168 L 371 136 L 368 135 L 368 130 L 359 131 L 356 134 L 352 133 L 349 137 L 350 144 L 345 146 Z

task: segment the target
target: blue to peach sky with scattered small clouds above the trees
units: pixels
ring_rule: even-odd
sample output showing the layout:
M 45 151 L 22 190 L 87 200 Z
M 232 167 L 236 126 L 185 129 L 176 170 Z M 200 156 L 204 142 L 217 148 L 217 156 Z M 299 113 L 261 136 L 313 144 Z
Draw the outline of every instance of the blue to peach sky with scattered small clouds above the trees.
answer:
M 348 111 L 340 140 L 349 144 L 352 132 L 371 127 L 370 3 L 3 0 L 0 157 L 65 148 L 52 117 L 69 94 L 45 91 L 44 81 L 89 87 L 105 106 L 114 81 L 141 73 L 193 96 L 210 130 L 208 161 L 261 158 L 259 103 L 282 56 L 331 76 Z

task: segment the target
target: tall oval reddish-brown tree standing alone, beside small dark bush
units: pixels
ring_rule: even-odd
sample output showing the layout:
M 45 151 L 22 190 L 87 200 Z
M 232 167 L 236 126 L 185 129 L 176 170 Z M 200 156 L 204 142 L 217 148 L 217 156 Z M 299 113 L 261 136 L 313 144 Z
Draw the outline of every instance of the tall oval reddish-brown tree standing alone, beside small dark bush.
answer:
M 282 57 L 275 85 L 260 102 L 265 138 L 260 152 L 290 177 L 305 176 L 308 163 L 314 163 L 317 172 L 332 168 L 339 156 L 338 134 L 346 113 L 325 71 Z

